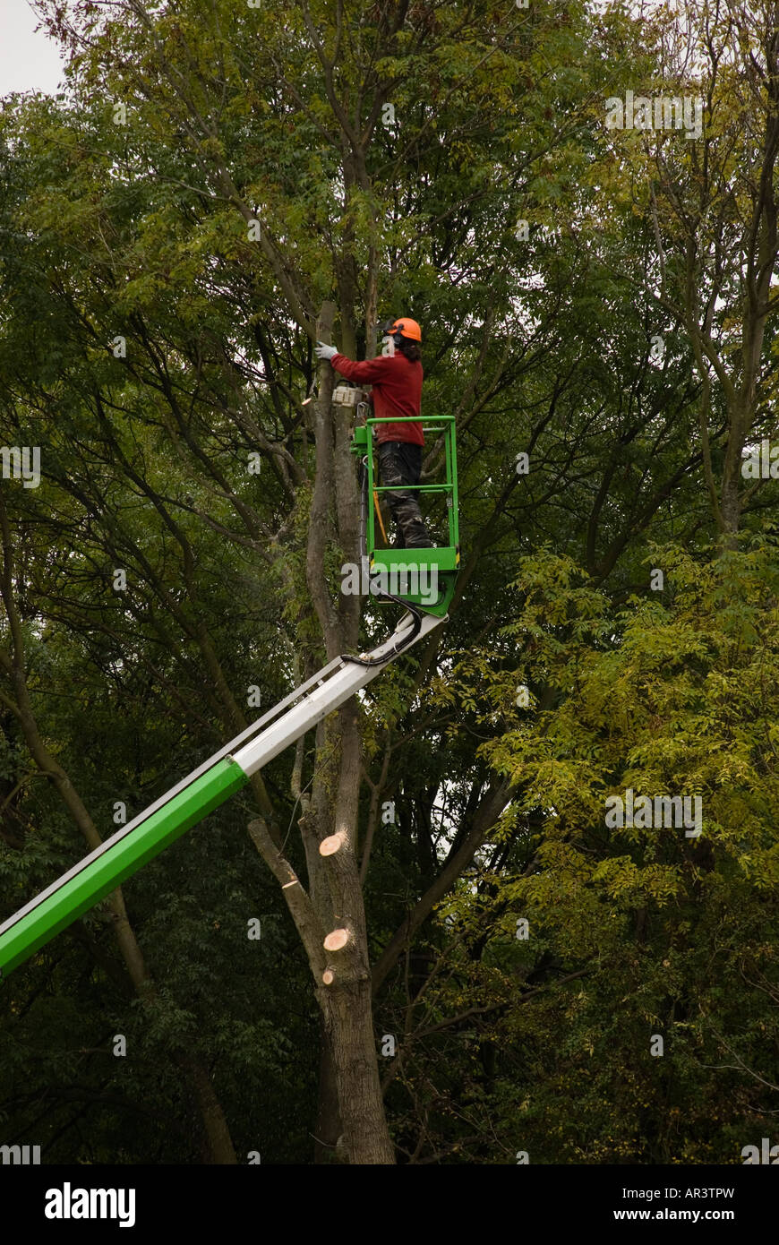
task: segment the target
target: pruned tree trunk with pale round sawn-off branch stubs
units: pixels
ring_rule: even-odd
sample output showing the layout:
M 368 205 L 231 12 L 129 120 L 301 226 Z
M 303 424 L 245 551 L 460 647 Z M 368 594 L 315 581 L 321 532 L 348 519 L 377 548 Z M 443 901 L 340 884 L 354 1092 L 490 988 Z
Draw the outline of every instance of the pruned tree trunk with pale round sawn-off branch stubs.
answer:
M 334 304 L 325 303 L 316 322 L 317 339 L 330 342 L 335 315 Z M 343 324 L 341 332 L 346 332 Z M 353 340 L 353 334 L 345 340 Z M 306 586 L 329 659 L 352 647 L 360 627 L 360 599 L 341 594 L 334 603 L 331 586 L 322 575 L 332 544 L 346 558 L 358 558 L 358 499 L 348 447 L 352 417 L 343 411 L 334 413 L 332 385 L 332 367 L 322 365 L 314 421 L 316 476 L 306 549 Z M 355 855 L 360 761 L 360 716 L 357 702 L 352 700 L 316 732 L 311 801 L 299 823 L 309 867 L 307 893 L 279 845 L 271 842 L 266 823 L 261 819 L 253 822 L 249 833 L 281 883 L 282 895 L 306 947 L 322 1012 L 325 1042 L 316 1133 L 319 1160 L 324 1162 L 322 1152 L 334 1142 L 340 1117 L 342 1142 L 337 1148 L 338 1152 L 346 1150 L 350 1163 L 392 1164 L 394 1152 L 378 1078 L 366 918 Z M 334 834 L 342 839 L 340 850 L 320 855 L 320 843 Z M 325 939 L 332 935 L 334 929 L 347 930 L 348 937 L 341 949 L 326 951 Z M 329 985 L 325 984 L 325 975 Z M 332 1086 L 337 1094 L 337 1113 Z

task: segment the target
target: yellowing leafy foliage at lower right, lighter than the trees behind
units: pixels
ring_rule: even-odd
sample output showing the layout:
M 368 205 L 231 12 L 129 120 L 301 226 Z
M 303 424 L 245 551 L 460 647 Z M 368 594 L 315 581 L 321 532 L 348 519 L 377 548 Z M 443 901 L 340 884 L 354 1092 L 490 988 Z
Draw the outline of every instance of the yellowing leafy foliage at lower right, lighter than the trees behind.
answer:
M 467 1109 L 455 1119 L 428 1102 L 438 1144 L 462 1139 L 453 1154 L 487 1159 L 472 1137 L 487 1118 L 504 1162 L 521 1147 L 534 1162 L 737 1163 L 744 1137 L 770 1130 L 777 554 L 770 534 L 713 560 L 653 549 L 668 599 L 618 613 L 570 560 L 523 559 L 505 630 L 561 696 L 506 707 L 506 728 L 479 748 L 516 783 L 514 870 L 484 865 L 438 910 L 449 976 L 419 1028 L 474 1007 L 497 1017 L 457 1030 L 472 1056 Z M 487 726 L 515 677 L 479 650 L 447 691 L 462 688 Z M 605 798 L 628 787 L 698 794 L 701 837 L 609 829 Z M 454 1041 L 416 1052 L 412 1097 L 431 1078 L 443 1092 L 449 1062 L 462 1068 Z

